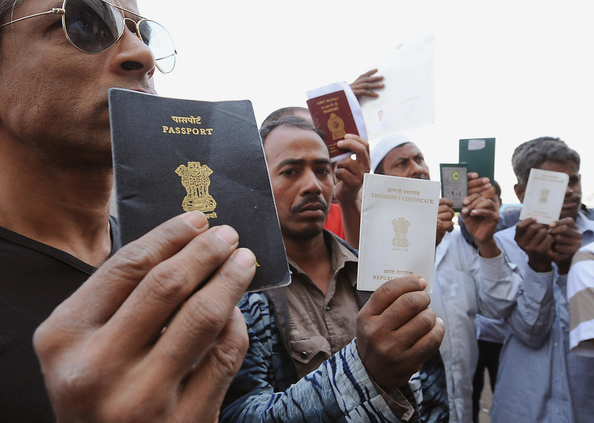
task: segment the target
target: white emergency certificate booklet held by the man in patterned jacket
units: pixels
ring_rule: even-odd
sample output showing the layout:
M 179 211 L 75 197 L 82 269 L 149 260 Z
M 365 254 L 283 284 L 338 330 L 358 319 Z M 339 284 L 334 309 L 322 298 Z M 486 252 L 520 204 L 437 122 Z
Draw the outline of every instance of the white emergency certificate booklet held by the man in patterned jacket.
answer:
M 375 291 L 388 280 L 421 276 L 433 291 L 435 231 L 441 184 L 365 173 L 357 289 Z

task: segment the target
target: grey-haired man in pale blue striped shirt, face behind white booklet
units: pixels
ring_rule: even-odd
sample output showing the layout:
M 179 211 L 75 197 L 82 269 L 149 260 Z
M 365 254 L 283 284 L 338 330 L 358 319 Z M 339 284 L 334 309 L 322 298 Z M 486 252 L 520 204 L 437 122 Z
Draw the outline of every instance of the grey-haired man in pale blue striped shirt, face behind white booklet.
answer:
M 569 182 L 559 220 L 541 225 L 525 219 L 495 233 L 523 280 L 505 320 L 510 334 L 501 352 L 491 421 L 590 422 L 594 360 L 570 351 L 567 302 L 571 259 L 594 241 L 594 222 L 582 210 L 580 156 L 558 138 L 541 137 L 517 147 L 512 165 L 520 202 L 532 168 L 567 173 Z M 493 281 L 482 282 L 495 288 Z

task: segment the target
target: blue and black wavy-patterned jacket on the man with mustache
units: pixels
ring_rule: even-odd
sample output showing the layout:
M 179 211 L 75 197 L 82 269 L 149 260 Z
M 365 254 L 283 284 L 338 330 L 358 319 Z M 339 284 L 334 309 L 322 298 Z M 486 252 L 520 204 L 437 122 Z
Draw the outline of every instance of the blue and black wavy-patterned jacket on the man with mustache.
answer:
M 369 295 L 356 291 L 359 308 Z M 289 308 L 282 288 L 247 293 L 239 308 L 249 349 L 223 402 L 221 422 L 400 422 L 375 390 L 354 339 L 297 380 L 286 342 Z M 414 403 L 410 389 L 403 393 Z M 410 421 L 416 420 L 415 411 Z

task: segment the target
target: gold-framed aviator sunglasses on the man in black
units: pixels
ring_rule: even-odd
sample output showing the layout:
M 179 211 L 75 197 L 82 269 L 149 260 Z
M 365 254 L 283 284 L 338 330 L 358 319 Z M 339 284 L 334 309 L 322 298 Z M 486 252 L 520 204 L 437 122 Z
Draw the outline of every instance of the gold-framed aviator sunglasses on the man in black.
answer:
M 141 19 L 137 22 L 131 18 L 125 18 L 121 11 Z M 49 13 L 62 15 L 62 28 L 69 42 L 77 49 L 89 54 L 109 49 L 124 34 L 126 21 L 134 23 L 138 38 L 149 46 L 153 53 L 157 69 L 168 74 L 175 67 L 177 52 L 173 46 L 173 39 L 162 25 L 105 0 L 64 0 L 62 8 L 52 8 L 47 12 L 15 19 L 0 27 Z

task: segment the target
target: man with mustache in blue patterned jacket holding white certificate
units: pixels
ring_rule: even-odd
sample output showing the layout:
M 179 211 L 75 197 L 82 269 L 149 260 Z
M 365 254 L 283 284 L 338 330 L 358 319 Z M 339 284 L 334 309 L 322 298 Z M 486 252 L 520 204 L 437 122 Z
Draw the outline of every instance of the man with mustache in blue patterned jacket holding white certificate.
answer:
M 287 116 L 260 134 L 292 283 L 240 301 L 250 346 L 222 421 L 415 421 L 407 381 L 443 333 L 424 279 L 356 291 L 356 251 L 323 229 L 333 191 L 348 201 L 361 188 L 366 141 L 339 141 L 356 160 L 339 163 L 335 186 L 328 149 L 310 122 Z

